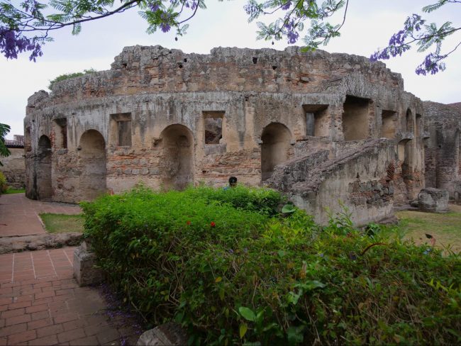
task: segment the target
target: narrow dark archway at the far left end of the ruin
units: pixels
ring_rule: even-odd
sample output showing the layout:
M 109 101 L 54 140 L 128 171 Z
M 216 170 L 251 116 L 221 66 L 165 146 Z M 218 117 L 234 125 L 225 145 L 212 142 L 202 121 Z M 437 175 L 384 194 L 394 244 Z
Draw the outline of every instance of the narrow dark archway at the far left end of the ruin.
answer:
M 51 199 L 51 141 L 46 135 L 38 139 L 37 199 Z

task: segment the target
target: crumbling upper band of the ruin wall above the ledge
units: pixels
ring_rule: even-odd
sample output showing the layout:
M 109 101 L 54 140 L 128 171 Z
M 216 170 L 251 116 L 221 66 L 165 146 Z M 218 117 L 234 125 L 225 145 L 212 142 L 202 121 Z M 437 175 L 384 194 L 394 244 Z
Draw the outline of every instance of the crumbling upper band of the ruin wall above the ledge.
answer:
M 190 91 L 343 94 L 342 84 L 354 76 L 364 81 L 367 97 L 375 89 L 404 91 L 400 74 L 358 55 L 302 52 L 299 47 L 219 47 L 210 54 L 187 54 L 161 45 L 135 45 L 123 48 L 108 71 L 53 84 L 50 103 Z

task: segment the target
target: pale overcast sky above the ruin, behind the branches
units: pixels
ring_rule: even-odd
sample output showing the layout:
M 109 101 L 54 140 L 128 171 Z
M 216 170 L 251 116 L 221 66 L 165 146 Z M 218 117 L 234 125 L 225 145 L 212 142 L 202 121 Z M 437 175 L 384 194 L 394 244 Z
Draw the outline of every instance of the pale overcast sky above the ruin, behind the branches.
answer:
M 390 36 L 396 33 L 411 13 L 421 13 L 421 8 L 436 0 L 350 0 L 345 26 L 340 38 L 322 48 L 328 52 L 347 52 L 370 56 L 374 50 L 387 45 Z M 70 35 L 66 28 L 53 33 L 55 42 L 45 45 L 43 57 L 29 62 L 23 55 L 18 60 L 0 57 L 0 123 L 11 125 L 6 137 L 23 134 L 23 118 L 28 96 L 35 91 L 48 91 L 50 79 L 60 74 L 79 72 L 83 69 L 110 69 L 113 57 L 128 45 L 162 45 L 184 52 L 209 53 L 214 47 L 238 48 L 286 48 L 286 40 L 275 45 L 256 40 L 256 25 L 248 23 L 243 10 L 246 0 L 207 0 L 208 9 L 189 22 L 187 35 L 174 40 L 172 33 L 145 33 L 147 24 L 134 10 L 111 18 L 85 23 L 82 33 Z M 429 21 L 461 23 L 461 4 L 448 4 L 443 9 L 425 14 Z M 264 18 L 263 18 L 264 19 Z M 338 16 L 338 22 L 342 19 Z M 457 38 L 457 40 L 456 40 Z M 460 40 L 460 35 L 446 40 L 445 49 L 451 50 Z M 299 43 L 301 45 L 301 42 Z M 386 62 L 393 72 L 404 77 L 405 89 L 423 100 L 450 104 L 461 101 L 461 48 L 447 60 L 445 72 L 434 76 L 417 76 L 416 66 L 423 60 L 423 53 L 412 49 L 404 57 Z

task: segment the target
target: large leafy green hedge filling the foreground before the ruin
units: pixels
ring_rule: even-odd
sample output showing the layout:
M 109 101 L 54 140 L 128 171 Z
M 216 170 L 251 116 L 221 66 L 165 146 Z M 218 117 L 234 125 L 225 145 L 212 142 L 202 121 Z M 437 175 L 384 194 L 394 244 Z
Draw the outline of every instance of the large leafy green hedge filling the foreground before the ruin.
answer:
M 326 227 L 298 209 L 272 216 L 281 202 L 243 187 L 141 188 L 83 208 L 111 284 L 152 325 L 182 323 L 191 343 L 461 341 L 457 255 L 378 225 L 361 233 L 345 213 Z

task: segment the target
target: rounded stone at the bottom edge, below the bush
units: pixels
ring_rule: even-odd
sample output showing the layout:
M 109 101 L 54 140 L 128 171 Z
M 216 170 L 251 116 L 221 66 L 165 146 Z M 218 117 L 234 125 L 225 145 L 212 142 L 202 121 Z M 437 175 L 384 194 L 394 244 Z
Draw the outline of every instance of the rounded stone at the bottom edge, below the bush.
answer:
M 177 323 L 169 322 L 150 329 L 140 336 L 137 346 L 187 345 L 187 333 Z

